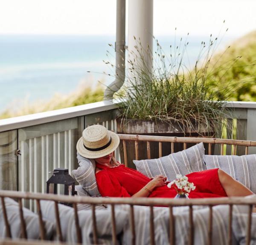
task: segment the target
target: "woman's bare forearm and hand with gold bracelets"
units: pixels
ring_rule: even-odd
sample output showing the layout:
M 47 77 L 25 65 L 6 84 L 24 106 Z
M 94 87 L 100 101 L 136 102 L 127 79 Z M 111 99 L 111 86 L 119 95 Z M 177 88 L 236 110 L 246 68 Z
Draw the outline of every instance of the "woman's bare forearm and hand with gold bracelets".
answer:
M 154 190 L 156 187 L 164 186 L 166 185 L 166 177 L 163 175 L 158 175 L 154 177 L 148 184 L 146 184 L 140 191 L 132 195 L 132 197 L 148 197 L 151 192 Z

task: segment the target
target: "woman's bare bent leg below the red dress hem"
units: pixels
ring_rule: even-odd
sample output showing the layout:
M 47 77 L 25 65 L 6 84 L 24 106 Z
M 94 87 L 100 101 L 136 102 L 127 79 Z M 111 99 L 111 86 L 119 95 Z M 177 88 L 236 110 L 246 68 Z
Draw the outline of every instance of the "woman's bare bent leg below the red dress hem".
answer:
M 247 187 L 220 168 L 218 169 L 218 177 L 228 197 L 244 197 L 253 194 Z

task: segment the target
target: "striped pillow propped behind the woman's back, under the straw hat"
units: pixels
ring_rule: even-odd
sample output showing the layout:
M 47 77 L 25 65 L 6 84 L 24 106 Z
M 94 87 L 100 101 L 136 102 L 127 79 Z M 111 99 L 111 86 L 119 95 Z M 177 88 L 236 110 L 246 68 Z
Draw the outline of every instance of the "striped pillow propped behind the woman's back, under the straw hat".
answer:
M 77 182 L 91 197 L 100 197 L 95 177 L 95 161 L 82 157 L 77 153 L 79 168 L 72 171 Z

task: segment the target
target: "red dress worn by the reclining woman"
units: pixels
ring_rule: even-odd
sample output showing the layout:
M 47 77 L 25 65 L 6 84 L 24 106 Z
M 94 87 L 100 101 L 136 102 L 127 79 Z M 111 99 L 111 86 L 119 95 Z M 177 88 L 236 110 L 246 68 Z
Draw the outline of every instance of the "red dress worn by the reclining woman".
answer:
M 96 163 L 96 166 L 102 169 L 96 173 L 96 181 L 102 197 L 131 197 L 151 180 L 139 171 L 126 168 L 122 164 L 114 168 L 99 163 Z M 189 193 L 189 198 L 227 197 L 218 178 L 218 168 L 194 172 L 186 176 L 196 187 Z M 173 198 L 176 194 L 174 188 L 164 185 L 154 188 L 148 197 Z

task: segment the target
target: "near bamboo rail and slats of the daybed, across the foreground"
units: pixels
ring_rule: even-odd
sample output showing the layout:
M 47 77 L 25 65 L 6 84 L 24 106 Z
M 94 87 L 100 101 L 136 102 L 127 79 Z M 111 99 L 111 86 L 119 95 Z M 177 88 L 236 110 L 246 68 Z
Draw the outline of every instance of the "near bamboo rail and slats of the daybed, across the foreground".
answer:
M 20 223 L 21 223 L 21 233 L 22 238 L 26 239 L 26 222 L 23 218 L 23 211 L 22 211 L 22 200 L 23 199 L 32 199 L 35 200 L 38 203 L 38 219 L 39 219 L 39 225 L 41 230 L 41 239 L 44 240 L 44 222 L 42 220 L 41 215 L 41 209 L 40 209 L 40 201 L 41 200 L 50 200 L 55 202 L 55 224 L 56 224 L 56 230 L 58 234 L 58 240 L 60 242 L 63 241 L 63 236 L 61 233 L 61 223 L 60 223 L 60 217 L 59 217 L 59 211 L 58 211 L 58 202 L 66 202 L 66 203 L 73 203 L 74 207 L 74 220 L 76 225 L 76 231 L 77 231 L 77 241 L 78 243 L 81 243 L 81 229 L 79 227 L 79 216 L 77 214 L 77 208 L 76 205 L 78 203 L 87 203 L 92 205 L 92 217 L 93 218 L 93 243 L 98 243 L 97 238 L 97 223 L 96 223 L 96 214 L 95 214 L 95 205 L 96 204 L 107 204 L 111 205 L 111 224 L 112 224 L 112 242 L 113 244 L 116 244 L 116 220 L 115 220 L 115 206 L 116 205 L 122 205 L 127 204 L 130 205 L 130 221 L 131 221 L 131 244 L 135 244 L 135 223 L 134 223 L 134 212 L 133 207 L 134 205 L 147 205 L 150 206 L 150 243 L 151 245 L 154 245 L 156 243 L 155 237 L 154 237 L 154 206 L 166 206 L 169 207 L 169 243 L 170 245 L 175 244 L 175 222 L 174 222 L 174 215 L 173 215 L 173 207 L 174 206 L 189 206 L 189 244 L 194 244 L 194 231 L 193 231 L 193 206 L 196 205 L 205 205 L 209 207 L 209 224 L 208 224 L 208 244 L 212 244 L 212 206 L 215 205 L 229 205 L 229 221 L 228 221 L 228 238 L 227 238 L 227 244 L 232 244 L 232 209 L 233 205 L 248 205 L 248 221 L 247 221 L 247 236 L 246 236 L 246 244 L 250 244 L 251 240 L 251 223 L 252 223 L 252 208 L 253 205 L 256 205 L 256 198 L 241 198 L 241 197 L 222 197 L 222 198 L 205 198 L 205 199 L 168 199 L 168 198 L 145 198 L 145 197 L 139 197 L 139 198 L 106 198 L 106 197 L 71 197 L 71 196 L 65 196 L 65 195 L 54 195 L 54 194 L 37 194 L 37 193 L 23 193 L 23 192 L 17 192 L 17 191 L 0 191 L 0 197 L 2 200 L 3 205 L 3 214 L 5 221 L 5 226 L 8 228 L 9 221 L 6 213 L 5 208 L 5 202 L 4 197 L 10 197 L 18 199 L 19 205 L 20 205 Z M 80 234 L 80 235 L 79 235 Z M 8 229 L 6 229 L 6 237 L 12 238 L 11 233 L 8 232 Z

